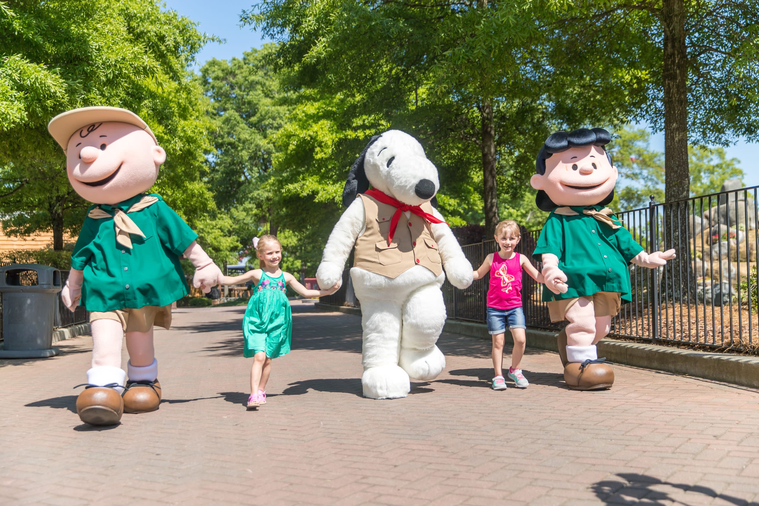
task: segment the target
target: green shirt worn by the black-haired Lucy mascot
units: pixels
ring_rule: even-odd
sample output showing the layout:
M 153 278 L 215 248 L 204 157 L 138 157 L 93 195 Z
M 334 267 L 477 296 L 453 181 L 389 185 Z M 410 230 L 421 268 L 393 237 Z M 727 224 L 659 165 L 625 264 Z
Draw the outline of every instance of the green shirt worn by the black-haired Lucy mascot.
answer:
M 612 228 L 583 214 L 584 209 L 600 211 L 603 206 L 569 206 L 569 209 L 577 215 L 559 215 L 556 209 L 548 215 L 533 253 L 537 261 L 543 253 L 558 256 L 559 269 L 567 276 L 567 292 L 554 294 L 543 286 L 543 301 L 616 291 L 623 301 L 630 302 L 628 265 L 643 247 L 626 228 Z M 611 218 L 621 225 L 615 215 Z

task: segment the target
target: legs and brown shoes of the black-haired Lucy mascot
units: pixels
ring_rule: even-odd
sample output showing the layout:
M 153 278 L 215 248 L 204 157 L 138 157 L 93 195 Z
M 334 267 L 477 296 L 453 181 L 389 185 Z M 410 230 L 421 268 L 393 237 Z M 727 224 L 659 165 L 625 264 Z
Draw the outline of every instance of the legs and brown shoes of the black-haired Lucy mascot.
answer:
M 611 388 L 614 384 L 614 370 L 606 363 L 590 362 L 597 360 L 596 344 L 597 320 L 605 326 L 608 316 L 596 318 L 593 301 L 580 297 L 566 312 L 569 320 L 567 334 L 567 365 L 564 367 L 564 381 L 572 390 L 600 390 Z M 606 331 L 608 332 L 608 331 Z M 603 337 L 603 336 L 601 336 Z

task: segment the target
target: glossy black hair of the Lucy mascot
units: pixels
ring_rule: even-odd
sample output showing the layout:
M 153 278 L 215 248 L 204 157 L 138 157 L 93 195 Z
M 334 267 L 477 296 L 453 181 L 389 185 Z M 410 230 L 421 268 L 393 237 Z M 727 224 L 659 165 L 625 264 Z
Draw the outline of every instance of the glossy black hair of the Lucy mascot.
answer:
M 569 148 L 598 146 L 603 149 L 603 152 L 606 153 L 606 159 L 608 159 L 609 164 L 611 164 L 612 157 L 604 147 L 606 144 L 611 142 L 611 140 L 611 134 L 609 134 L 609 132 L 603 128 L 578 128 L 577 130 L 572 130 L 571 132 L 555 132 L 546 139 L 546 142 L 543 143 L 543 147 L 540 148 L 540 152 L 537 153 L 537 160 L 535 161 L 535 174 L 545 174 L 546 159 L 550 159 L 554 153 L 563 152 Z M 603 200 L 601 200 L 599 203 L 596 203 L 596 205 L 606 206 L 606 204 L 610 203 L 612 200 L 614 200 L 614 189 L 612 189 L 609 195 L 603 197 Z M 542 211 L 553 211 L 553 209 L 559 207 L 553 203 L 552 200 L 550 200 L 546 192 L 543 190 L 537 190 L 535 203 L 537 204 L 537 207 Z

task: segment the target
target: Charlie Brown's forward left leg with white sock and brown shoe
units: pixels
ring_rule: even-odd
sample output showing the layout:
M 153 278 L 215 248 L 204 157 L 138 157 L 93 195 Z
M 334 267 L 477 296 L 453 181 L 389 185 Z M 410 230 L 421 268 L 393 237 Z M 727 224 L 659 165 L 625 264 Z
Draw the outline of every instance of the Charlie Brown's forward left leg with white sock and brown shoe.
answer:
M 98 319 L 92 322 L 93 360 L 87 371 L 87 388 L 77 397 L 77 414 L 84 423 L 113 425 L 124 413 L 126 372 L 121 369 L 121 322 Z

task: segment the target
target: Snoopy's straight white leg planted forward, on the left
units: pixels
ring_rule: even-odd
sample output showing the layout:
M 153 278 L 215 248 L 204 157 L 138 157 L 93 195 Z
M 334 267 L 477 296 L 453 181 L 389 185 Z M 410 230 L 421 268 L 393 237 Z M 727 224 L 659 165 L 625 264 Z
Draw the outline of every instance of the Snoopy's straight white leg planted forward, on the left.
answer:
M 396 399 L 411 390 L 408 374 L 398 367 L 401 342 L 401 304 L 395 300 L 361 298 L 364 397 Z

